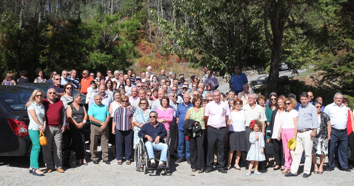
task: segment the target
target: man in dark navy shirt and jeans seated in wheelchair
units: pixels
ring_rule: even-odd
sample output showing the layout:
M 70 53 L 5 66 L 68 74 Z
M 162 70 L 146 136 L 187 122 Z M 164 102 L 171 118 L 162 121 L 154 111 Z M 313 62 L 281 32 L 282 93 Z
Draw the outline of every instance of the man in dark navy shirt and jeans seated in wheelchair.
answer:
M 139 137 L 143 137 L 145 143 L 145 148 L 150 157 L 151 165 L 150 167 L 155 168 L 155 151 L 161 151 L 160 162 L 158 169 L 166 167 L 164 162 L 166 162 L 167 151 L 169 146 L 166 143 L 162 143 L 162 140 L 167 136 L 167 131 L 165 125 L 157 122 L 158 113 L 155 111 L 150 112 L 150 122 L 143 125 L 138 133 Z

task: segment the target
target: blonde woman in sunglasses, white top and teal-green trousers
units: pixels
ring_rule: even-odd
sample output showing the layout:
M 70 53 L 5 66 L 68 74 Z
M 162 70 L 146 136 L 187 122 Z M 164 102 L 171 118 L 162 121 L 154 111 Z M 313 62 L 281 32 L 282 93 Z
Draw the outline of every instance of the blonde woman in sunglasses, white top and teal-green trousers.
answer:
M 29 101 L 32 103 L 27 107 L 29 125 L 28 134 L 32 141 L 32 150 L 29 163 L 29 173 L 36 176 L 43 176 L 44 173 L 39 169 L 39 153 L 41 145 L 39 143 L 39 131 L 44 132 L 46 128 L 45 109 L 42 105 L 44 92 L 36 89 L 33 91 Z

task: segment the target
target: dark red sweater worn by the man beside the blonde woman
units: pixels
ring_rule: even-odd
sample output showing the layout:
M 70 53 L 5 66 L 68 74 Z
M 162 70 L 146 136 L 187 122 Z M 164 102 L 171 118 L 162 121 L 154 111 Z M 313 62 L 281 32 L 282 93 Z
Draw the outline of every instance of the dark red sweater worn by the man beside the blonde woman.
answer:
M 47 120 L 47 124 L 49 126 L 62 125 L 63 111 L 65 111 L 62 100 L 55 99 L 54 104 L 51 104 L 48 99 L 45 99 L 43 100 L 43 105 L 45 108 L 45 118 Z

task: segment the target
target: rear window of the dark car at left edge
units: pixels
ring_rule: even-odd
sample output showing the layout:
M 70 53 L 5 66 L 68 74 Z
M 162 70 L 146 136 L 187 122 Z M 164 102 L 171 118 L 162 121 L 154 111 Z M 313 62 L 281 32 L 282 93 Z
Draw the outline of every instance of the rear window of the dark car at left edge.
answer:
M 12 110 L 20 111 L 25 109 L 25 104 L 32 95 L 32 91 L 28 89 L 2 89 L 0 98 Z

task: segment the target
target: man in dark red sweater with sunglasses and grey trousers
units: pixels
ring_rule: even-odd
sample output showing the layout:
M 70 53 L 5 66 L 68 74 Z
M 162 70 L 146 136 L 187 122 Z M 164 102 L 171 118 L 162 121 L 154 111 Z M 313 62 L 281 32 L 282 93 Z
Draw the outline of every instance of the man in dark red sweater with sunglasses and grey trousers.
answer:
M 54 165 L 59 173 L 64 173 L 62 169 L 62 138 L 67 125 L 67 118 L 63 102 L 56 99 L 56 91 L 53 88 L 48 89 L 48 99 L 43 100 L 43 105 L 46 112 L 47 128 L 44 132 L 47 137 L 48 144 L 42 146 L 43 159 L 47 167 L 47 173 L 53 171 Z M 52 146 L 53 156 L 52 157 Z

